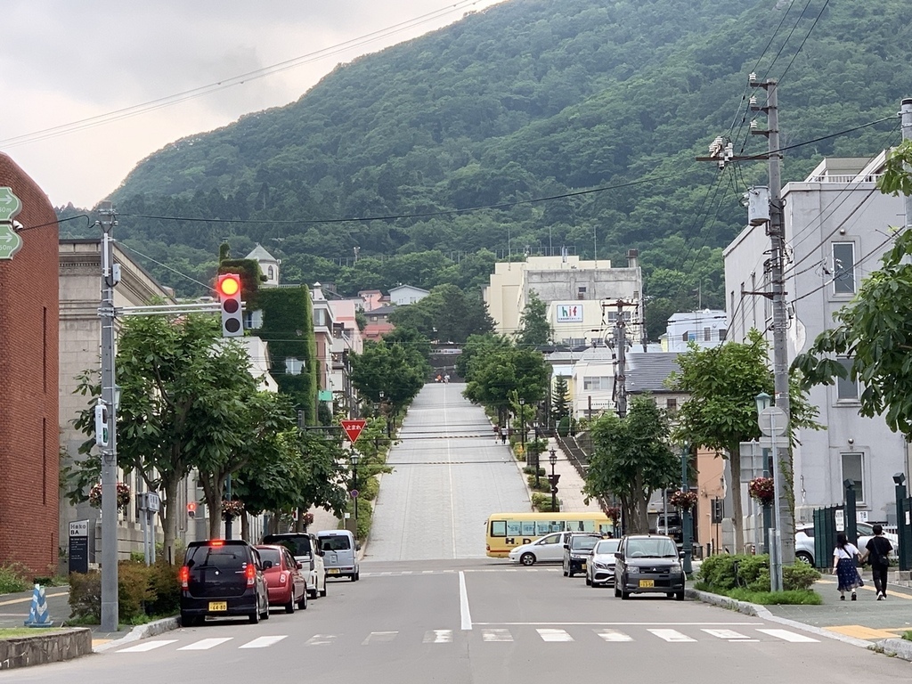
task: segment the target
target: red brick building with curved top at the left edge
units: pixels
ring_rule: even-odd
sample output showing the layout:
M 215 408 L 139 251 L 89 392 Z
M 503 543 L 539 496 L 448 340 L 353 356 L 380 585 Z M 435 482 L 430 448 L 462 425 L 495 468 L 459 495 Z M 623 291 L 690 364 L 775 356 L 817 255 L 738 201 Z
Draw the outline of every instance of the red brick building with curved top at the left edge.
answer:
M 22 248 L 0 260 L 0 565 L 57 572 L 59 313 L 57 216 L 47 195 L 0 153 L 0 188 L 22 202 Z

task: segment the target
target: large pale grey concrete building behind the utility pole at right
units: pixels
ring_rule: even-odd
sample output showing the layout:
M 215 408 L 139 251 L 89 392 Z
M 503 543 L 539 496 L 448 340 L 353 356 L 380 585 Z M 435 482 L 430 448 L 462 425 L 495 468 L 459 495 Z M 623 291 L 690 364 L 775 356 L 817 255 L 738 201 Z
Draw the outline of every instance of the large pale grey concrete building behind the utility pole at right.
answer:
M 901 225 L 904 198 L 876 190 L 886 153 L 865 159 L 826 159 L 801 182 L 782 191 L 789 260 L 785 292 L 789 304 L 788 358 L 806 350 L 833 315 L 848 305 L 862 280 L 892 246 L 891 225 Z M 770 240 L 763 226 L 745 228 L 725 250 L 729 337 L 741 340 L 751 328 L 770 331 L 772 307 L 763 263 Z M 772 333 L 766 332 L 771 338 Z M 843 360 L 849 363 L 848 359 Z M 795 513 L 813 519 L 814 508 L 842 503 L 845 480 L 855 482 L 858 511 L 872 521 L 896 522 L 892 476 L 909 478 L 909 453 L 902 435 L 881 418 L 859 415 L 863 388 L 840 380 L 819 386 L 810 400 L 826 430 L 802 430 L 794 450 Z M 748 501 L 745 492 L 744 501 Z

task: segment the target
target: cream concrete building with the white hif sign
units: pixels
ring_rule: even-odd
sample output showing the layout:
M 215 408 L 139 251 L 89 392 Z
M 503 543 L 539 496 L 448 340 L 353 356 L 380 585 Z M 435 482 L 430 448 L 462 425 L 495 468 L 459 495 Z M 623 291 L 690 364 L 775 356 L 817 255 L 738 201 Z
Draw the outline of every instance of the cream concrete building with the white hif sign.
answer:
M 519 330 L 531 292 L 547 305 L 556 344 L 575 346 L 601 340 L 604 333 L 597 331 L 613 325 L 617 317 L 617 308 L 603 308 L 603 303 L 630 302 L 624 315 L 631 322 L 637 321 L 637 312 L 642 310 L 643 276 L 637 251 L 630 250 L 623 268 L 613 268 L 607 260 L 581 261 L 569 255 L 530 256 L 524 262 L 494 264 L 483 296 L 495 332 L 514 335 Z M 630 326 L 628 334 L 634 339 L 642 337 L 639 326 Z

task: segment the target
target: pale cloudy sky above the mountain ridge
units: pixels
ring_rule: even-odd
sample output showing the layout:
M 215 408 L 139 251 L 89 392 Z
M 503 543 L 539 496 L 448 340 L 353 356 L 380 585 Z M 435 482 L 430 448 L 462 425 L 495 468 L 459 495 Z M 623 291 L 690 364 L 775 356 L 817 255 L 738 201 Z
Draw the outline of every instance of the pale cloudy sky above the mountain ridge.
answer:
M 91 208 L 173 140 L 502 1 L 4 0 L 0 151 Z

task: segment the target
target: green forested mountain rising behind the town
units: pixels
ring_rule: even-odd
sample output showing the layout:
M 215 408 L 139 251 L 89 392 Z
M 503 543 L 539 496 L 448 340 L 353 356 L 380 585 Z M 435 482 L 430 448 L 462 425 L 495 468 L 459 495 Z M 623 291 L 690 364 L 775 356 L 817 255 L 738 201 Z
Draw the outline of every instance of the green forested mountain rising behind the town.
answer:
M 696 306 L 698 285 L 722 306 L 720 248 L 766 166 L 720 175 L 694 158 L 717 135 L 765 150 L 742 121 L 748 74 L 781 78 L 783 145 L 824 138 L 912 95 L 910 27 L 908 0 L 510 0 L 151 155 L 112 196 L 119 240 L 202 281 L 223 237 L 234 256 L 258 242 L 285 280 L 346 293 L 477 287 L 508 244 L 621 264 L 637 248 L 654 316 Z M 783 181 L 824 155 L 876 154 L 897 130 L 787 150 Z

